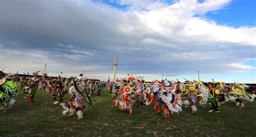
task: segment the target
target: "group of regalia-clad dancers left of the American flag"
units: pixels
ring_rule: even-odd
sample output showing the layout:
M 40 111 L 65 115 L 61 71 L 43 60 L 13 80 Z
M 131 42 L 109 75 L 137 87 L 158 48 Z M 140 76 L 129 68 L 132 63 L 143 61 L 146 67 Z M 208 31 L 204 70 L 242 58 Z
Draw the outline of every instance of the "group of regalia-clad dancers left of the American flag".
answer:
M 29 97 L 29 102 L 35 102 L 37 89 L 44 90 L 51 94 L 53 105 L 59 104 L 66 112 L 70 112 L 69 116 L 75 112 L 78 119 L 83 119 L 83 111 L 88 105 L 92 105 L 90 97 L 94 92 L 101 97 L 100 92 L 104 91 L 105 83 L 99 80 L 83 78 L 41 78 L 38 72 L 33 72 L 32 77 L 18 77 L 16 74 L 7 74 L 0 71 L 0 112 L 7 112 L 14 104 L 14 97 L 18 95 L 18 89 L 23 90 L 24 99 Z M 69 93 L 68 103 L 64 104 L 64 95 Z

